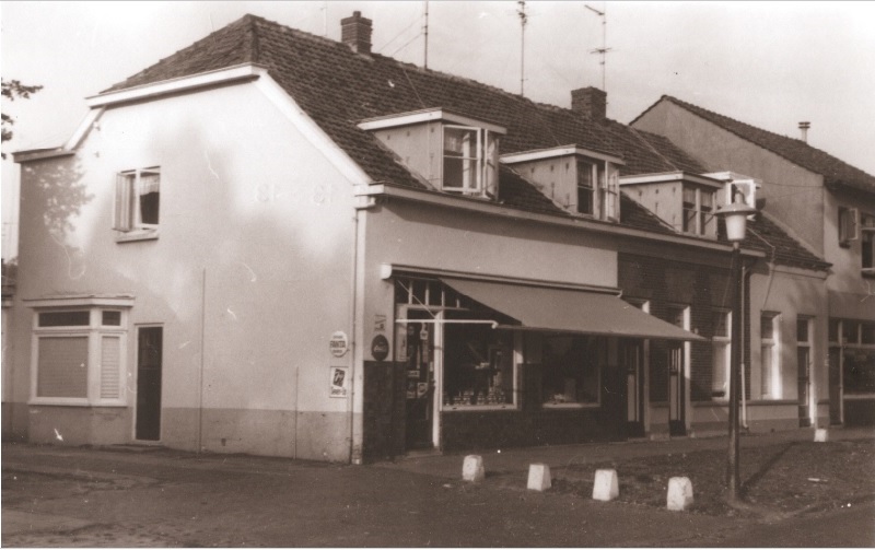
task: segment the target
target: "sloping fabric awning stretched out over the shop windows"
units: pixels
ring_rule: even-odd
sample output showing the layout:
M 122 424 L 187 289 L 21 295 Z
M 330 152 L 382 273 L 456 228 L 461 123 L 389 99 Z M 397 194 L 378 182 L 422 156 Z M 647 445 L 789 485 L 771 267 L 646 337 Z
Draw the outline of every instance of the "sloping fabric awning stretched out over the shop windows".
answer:
M 441 278 L 460 294 L 520 321 L 500 328 L 704 340 L 608 293 Z

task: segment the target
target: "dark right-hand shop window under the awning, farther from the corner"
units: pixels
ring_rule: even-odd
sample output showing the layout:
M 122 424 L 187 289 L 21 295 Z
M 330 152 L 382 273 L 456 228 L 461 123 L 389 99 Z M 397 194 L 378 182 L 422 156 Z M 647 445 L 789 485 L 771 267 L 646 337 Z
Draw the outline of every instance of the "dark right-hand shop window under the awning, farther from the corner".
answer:
M 600 403 L 602 366 L 607 341 L 588 336 L 544 338 L 541 402 L 544 407 L 585 407 Z

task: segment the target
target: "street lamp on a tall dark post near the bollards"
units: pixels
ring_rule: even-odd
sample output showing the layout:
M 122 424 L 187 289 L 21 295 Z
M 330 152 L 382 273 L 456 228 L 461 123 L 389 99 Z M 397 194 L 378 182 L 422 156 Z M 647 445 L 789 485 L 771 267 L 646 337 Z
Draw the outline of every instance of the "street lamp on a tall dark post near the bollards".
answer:
M 714 212 L 726 223 L 726 238 L 732 243 L 732 341 L 730 343 L 730 448 L 726 457 L 726 487 L 730 502 L 740 500 L 738 476 L 738 400 L 742 388 L 742 241 L 747 231 L 747 217 L 756 212 L 744 201 L 734 201 Z

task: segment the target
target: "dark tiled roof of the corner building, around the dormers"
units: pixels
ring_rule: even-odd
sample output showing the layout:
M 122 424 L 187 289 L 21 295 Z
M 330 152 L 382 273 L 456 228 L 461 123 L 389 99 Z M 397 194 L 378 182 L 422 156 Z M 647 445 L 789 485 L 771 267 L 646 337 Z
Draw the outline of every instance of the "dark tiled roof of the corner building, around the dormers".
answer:
M 242 63 L 266 68 L 373 182 L 384 185 L 430 190 L 371 132 L 359 128 L 359 122 L 432 108 L 506 128 L 501 141 L 502 154 L 574 144 L 622 157 L 626 174 L 707 172 L 705 166 L 664 137 L 609 119 L 593 120 L 571 109 L 535 103 L 474 80 L 378 54 L 355 54 L 342 43 L 256 15 L 243 16 L 104 93 Z M 570 215 L 513 168 L 502 165 L 499 178 L 499 201 L 504 207 Z M 620 223 L 625 226 L 677 235 L 625 196 L 621 215 Z M 695 242 L 691 238 L 691 244 Z

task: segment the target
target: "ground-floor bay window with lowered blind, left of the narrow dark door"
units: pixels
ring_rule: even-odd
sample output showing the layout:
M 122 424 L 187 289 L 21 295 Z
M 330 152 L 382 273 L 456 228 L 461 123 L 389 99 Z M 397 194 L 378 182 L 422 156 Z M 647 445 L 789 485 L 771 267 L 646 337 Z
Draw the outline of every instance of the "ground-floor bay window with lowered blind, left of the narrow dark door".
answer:
M 32 402 L 125 405 L 125 317 L 98 307 L 38 311 Z

